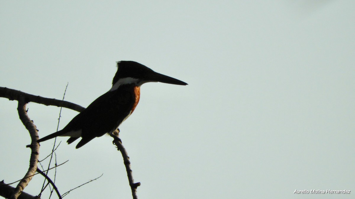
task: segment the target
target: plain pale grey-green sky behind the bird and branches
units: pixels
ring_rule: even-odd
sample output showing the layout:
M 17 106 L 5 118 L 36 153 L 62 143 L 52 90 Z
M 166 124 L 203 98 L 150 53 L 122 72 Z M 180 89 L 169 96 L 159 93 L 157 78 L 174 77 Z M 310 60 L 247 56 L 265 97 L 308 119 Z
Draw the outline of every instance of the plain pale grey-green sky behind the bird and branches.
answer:
M 0 86 L 61 99 L 69 83 L 65 100 L 87 107 L 121 60 L 188 83 L 144 84 L 120 126 L 141 199 L 354 198 L 354 10 L 350 0 L 2 0 Z M 27 107 L 40 137 L 56 131 L 58 107 Z M 0 98 L 5 183 L 29 164 L 16 108 Z M 59 128 L 76 114 L 63 109 Z M 65 198 L 131 198 L 111 137 L 80 149 L 66 140 L 60 193 L 103 176 Z M 41 159 L 52 146 L 41 143 Z M 37 175 L 24 191 L 42 183 Z

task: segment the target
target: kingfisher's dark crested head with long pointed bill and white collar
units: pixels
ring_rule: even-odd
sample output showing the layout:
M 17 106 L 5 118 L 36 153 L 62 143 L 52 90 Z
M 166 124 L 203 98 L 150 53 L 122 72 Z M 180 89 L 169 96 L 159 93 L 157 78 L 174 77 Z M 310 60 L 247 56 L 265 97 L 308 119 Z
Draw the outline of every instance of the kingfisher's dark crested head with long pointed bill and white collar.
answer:
M 117 62 L 117 72 L 112 80 L 112 89 L 115 90 L 123 84 L 136 84 L 137 86 L 140 86 L 147 82 L 187 85 L 185 82 L 178 79 L 154 72 L 152 69 L 137 62 Z

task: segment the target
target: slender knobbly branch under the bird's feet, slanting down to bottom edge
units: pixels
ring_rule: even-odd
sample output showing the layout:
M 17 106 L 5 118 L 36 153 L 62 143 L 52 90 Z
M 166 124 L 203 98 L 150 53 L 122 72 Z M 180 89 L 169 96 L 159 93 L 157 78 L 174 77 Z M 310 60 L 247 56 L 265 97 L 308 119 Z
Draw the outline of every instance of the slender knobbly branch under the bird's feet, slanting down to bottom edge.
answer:
M 126 171 L 127 171 L 127 177 L 128 181 L 130 183 L 131 191 L 132 191 L 132 197 L 133 199 L 137 199 L 137 187 L 141 185 L 140 182 L 135 183 L 133 180 L 132 176 L 132 170 L 131 170 L 131 162 L 130 162 L 130 157 L 128 157 L 127 151 L 125 147 L 123 147 L 121 139 L 119 138 L 119 130 L 117 129 L 116 131 L 113 132 L 111 137 L 114 138 L 113 143 L 116 145 L 117 150 L 121 151 L 123 162 L 126 166 Z

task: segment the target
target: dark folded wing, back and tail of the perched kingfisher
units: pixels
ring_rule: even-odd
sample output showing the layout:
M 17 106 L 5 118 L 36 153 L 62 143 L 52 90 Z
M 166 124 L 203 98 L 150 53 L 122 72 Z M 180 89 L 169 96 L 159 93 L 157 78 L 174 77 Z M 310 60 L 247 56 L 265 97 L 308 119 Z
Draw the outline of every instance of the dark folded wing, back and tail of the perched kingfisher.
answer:
M 93 138 L 115 130 L 130 114 L 136 100 L 135 97 L 133 85 L 122 85 L 117 90 L 109 91 L 95 99 L 62 130 L 43 137 L 38 142 L 65 135 L 65 133 L 70 131 L 81 130 L 82 139 L 76 146 L 76 148 L 80 148 Z M 68 144 L 77 138 L 69 138 Z

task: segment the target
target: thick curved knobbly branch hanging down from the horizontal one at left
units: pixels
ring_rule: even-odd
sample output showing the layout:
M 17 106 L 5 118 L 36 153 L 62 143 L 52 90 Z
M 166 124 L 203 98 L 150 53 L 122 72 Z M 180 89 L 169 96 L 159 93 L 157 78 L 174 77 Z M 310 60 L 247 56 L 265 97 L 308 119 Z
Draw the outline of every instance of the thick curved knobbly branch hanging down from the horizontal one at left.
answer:
M 37 127 L 33 124 L 33 121 L 31 121 L 31 119 L 29 119 L 27 115 L 26 104 L 27 103 L 25 103 L 24 97 L 19 96 L 17 111 L 18 111 L 18 116 L 22 121 L 22 124 L 26 127 L 26 129 L 29 132 L 29 135 L 31 136 L 31 157 L 29 160 L 28 171 L 24 176 L 23 180 L 21 180 L 20 183 L 17 184 L 15 191 L 11 195 L 11 199 L 18 198 L 18 196 L 21 194 L 23 189 L 27 186 L 29 181 L 31 181 L 33 175 L 36 172 L 37 164 L 38 164 L 38 157 L 39 157 L 39 143 L 37 142 L 38 131 L 37 131 Z

